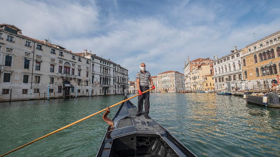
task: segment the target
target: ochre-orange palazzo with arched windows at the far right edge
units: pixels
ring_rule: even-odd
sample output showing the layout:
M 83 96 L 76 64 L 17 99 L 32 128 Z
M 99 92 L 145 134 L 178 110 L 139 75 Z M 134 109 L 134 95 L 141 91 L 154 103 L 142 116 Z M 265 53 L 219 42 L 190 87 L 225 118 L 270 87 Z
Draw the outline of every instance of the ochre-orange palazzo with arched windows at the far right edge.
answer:
M 280 31 L 251 43 L 243 49 L 243 52 L 245 52 L 241 57 L 243 77 L 247 81 L 249 89 L 253 89 L 253 84 L 265 84 L 266 77 L 269 84 L 271 84 L 271 81 L 279 80 L 279 39 Z M 272 63 L 267 67 L 270 61 Z M 267 76 L 266 70 L 268 70 Z

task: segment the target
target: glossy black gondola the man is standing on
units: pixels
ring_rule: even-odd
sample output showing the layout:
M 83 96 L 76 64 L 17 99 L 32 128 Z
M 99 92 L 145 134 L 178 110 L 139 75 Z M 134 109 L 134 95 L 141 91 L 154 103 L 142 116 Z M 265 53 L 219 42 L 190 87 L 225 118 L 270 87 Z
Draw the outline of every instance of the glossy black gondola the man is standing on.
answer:
M 137 111 L 129 100 L 121 104 L 97 157 L 196 156 L 152 118 L 146 119 L 143 114 L 135 117 Z

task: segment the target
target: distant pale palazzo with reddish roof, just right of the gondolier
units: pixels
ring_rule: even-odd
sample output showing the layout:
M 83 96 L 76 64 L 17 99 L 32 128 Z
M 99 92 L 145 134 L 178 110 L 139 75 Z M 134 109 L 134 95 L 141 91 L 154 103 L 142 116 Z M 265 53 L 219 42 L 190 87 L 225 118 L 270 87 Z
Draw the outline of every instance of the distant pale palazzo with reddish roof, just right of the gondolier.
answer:
M 184 74 L 166 71 L 157 75 L 159 92 L 179 92 L 184 90 Z

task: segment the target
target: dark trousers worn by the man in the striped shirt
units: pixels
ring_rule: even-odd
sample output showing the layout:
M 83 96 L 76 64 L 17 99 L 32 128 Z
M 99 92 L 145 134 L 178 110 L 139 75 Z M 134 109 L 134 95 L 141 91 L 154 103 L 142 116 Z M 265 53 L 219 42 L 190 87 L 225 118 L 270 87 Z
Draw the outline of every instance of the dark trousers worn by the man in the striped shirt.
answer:
M 144 92 L 148 89 L 149 89 L 149 86 L 140 86 L 141 92 Z M 142 113 L 144 100 L 145 100 L 145 103 L 144 103 L 145 114 L 148 115 L 149 109 L 150 109 L 150 91 L 138 96 L 138 113 Z

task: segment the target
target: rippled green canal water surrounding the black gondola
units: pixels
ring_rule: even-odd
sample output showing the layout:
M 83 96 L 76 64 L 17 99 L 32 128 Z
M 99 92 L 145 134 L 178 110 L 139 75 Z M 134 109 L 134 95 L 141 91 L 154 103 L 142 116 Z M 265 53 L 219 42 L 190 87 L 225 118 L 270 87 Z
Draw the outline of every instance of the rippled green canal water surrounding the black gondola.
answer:
M 0 154 L 123 98 L 0 103 Z M 137 105 L 137 98 L 131 102 Z M 150 103 L 149 115 L 197 156 L 280 156 L 279 109 L 215 93 L 151 93 Z M 94 116 L 7 156 L 95 156 L 107 127 L 101 115 Z

